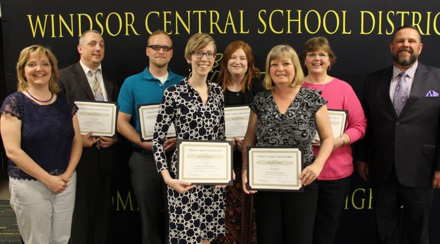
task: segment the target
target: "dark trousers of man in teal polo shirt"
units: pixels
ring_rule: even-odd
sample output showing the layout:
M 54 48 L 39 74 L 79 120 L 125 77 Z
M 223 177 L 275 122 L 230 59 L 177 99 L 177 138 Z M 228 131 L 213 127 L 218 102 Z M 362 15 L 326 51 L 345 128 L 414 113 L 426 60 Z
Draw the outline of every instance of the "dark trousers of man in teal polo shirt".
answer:
M 166 243 L 168 207 L 164 208 L 164 198 L 167 191 L 162 176 L 157 172 L 152 152 L 133 151 L 129 166 L 131 184 L 141 215 L 142 243 Z

